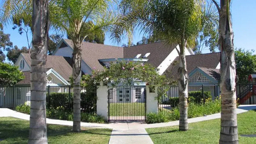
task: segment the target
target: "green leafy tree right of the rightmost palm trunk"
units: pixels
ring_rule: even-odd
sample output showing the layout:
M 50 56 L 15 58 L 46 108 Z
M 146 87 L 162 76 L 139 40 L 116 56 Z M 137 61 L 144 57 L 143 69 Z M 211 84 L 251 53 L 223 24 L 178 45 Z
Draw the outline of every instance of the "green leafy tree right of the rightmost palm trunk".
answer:
M 238 83 L 248 83 L 248 75 L 256 73 L 256 55 L 254 50 L 235 50 L 236 72 L 238 75 Z

